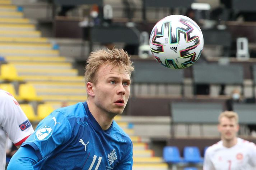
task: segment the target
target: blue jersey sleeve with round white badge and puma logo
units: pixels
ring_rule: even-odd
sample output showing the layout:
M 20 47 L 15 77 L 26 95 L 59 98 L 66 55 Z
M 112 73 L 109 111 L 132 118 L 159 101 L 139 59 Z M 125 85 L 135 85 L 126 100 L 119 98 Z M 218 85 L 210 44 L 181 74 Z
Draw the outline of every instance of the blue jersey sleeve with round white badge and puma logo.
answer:
M 59 111 L 53 111 L 37 126 L 34 133 L 22 144 L 30 145 L 39 160 L 49 155 L 56 147 L 66 143 L 71 136 L 68 118 Z

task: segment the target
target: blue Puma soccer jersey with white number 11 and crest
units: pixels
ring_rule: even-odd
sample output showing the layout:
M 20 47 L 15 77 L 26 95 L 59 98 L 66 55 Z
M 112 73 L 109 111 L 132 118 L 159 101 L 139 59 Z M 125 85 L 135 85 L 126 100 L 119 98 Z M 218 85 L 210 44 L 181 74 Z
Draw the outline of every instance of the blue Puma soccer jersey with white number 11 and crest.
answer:
M 34 169 L 130 170 L 132 142 L 113 121 L 103 131 L 86 102 L 57 109 L 22 144 L 36 151 Z

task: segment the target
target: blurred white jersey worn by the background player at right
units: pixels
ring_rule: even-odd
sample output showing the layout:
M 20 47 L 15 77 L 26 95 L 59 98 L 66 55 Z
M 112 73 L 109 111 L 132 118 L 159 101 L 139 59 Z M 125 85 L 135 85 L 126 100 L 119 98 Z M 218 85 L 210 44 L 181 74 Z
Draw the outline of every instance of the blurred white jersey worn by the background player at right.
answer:
M 219 141 L 205 152 L 203 170 L 256 170 L 256 145 L 237 138 L 231 148 Z

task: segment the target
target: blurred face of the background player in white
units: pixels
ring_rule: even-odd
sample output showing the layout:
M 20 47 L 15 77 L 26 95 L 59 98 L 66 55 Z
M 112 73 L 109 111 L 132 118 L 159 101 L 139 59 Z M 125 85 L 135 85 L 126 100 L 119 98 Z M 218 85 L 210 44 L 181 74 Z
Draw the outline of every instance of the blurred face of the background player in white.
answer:
M 223 140 L 232 140 L 236 137 L 239 125 L 235 118 L 222 117 L 218 125 L 218 130 Z

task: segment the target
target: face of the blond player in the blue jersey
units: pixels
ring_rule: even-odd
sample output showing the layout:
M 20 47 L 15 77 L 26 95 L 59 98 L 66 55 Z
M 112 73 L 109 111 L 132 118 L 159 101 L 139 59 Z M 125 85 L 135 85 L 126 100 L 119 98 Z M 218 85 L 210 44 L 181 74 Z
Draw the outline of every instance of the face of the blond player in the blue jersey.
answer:
M 130 96 L 130 76 L 124 69 L 102 65 L 94 88 L 95 105 L 105 113 L 121 114 Z

